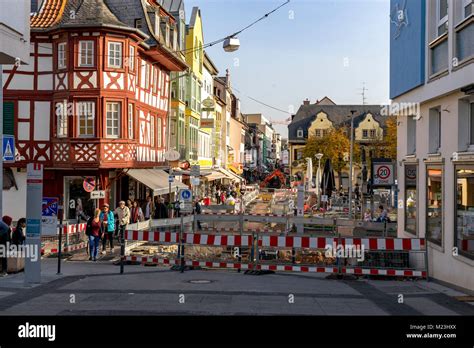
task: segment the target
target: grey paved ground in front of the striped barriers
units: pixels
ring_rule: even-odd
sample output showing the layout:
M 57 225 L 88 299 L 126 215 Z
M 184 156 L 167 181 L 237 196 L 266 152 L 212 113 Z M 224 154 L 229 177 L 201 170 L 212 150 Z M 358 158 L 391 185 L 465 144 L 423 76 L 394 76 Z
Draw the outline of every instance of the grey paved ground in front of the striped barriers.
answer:
M 463 295 L 426 281 L 328 280 L 324 274 L 125 266 L 43 260 L 43 282 L 24 287 L 24 274 L 0 279 L 3 315 L 474 315 Z M 398 303 L 403 295 L 404 303 Z M 291 302 L 290 298 L 294 298 Z M 74 299 L 74 301 L 72 301 Z M 180 300 L 184 300 L 184 303 Z

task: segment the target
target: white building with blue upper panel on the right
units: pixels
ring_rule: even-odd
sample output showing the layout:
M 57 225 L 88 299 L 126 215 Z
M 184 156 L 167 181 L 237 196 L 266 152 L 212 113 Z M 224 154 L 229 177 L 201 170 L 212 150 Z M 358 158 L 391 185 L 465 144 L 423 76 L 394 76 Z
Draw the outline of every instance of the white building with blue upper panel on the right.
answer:
M 400 109 L 398 235 L 425 237 L 429 276 L 472 291 L 474 4 L 392 0 L 391 10 L 390 97 Z

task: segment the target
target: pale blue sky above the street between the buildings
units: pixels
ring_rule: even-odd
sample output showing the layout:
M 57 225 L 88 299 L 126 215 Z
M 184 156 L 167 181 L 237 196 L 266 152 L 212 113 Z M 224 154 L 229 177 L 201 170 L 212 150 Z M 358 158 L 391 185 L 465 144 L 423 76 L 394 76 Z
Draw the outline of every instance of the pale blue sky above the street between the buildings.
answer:
M 204 42 L 250 24 L 285 0 L 186 0 L 186 17 L 201 9 Z M 219 69 L 230 69 L 243 113 L 263 113 L 272 120 L 296 112 L 302 101 L 324 96 L 337 104 L 388 102 L 389 0 L 291 0 L 278 12 L 240 36 L 241 47 L 226 53 L 222 44 L 206 49 Z M 276 126 L 287 136 L 285 126 Z

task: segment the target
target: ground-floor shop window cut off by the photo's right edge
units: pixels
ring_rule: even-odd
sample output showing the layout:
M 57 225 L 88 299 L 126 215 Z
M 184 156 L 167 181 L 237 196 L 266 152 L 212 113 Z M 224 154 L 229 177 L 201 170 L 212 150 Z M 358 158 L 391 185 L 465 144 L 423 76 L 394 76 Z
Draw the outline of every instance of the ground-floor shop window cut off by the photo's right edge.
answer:
M 459 254 L 474 259 L 474 166 L 456 167 L 456 234 Z

